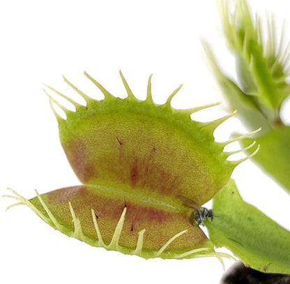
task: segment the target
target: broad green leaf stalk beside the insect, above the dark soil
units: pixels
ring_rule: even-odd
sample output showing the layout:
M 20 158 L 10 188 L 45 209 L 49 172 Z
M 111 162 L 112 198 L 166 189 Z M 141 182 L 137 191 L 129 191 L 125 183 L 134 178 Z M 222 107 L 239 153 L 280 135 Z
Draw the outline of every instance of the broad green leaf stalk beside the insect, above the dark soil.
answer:
M 268 273 L 290 274 L 290 232 L 244 202 L 231 179 L 213 198 L 211 241 L 229 248 L 245 265 Z

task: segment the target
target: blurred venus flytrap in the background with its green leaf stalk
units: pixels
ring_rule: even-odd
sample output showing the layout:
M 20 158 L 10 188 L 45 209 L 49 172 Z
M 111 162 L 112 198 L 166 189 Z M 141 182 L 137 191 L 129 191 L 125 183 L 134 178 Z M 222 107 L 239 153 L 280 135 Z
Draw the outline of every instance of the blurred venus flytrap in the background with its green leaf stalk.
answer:
M 218 1 L 224 35 L 236 58 L 238 82 L 221 70 L 213 50 L 204 42 L 208 61 L 231 109 L 246 126 L 261 127 L 255 137 L 261 149 L 253 159 L 286 190 L 290 190 L 290 127 L 280 117 L 284 100 L 289 96 L 289 43 L 285 43 L 285 26 L 277 31 L 273 17 L 263 21 L 253 17 L 245 0 Z M 231 13 L 231 8 L 234 11 Z M 243 140 L 245 147 L 253 140 Z

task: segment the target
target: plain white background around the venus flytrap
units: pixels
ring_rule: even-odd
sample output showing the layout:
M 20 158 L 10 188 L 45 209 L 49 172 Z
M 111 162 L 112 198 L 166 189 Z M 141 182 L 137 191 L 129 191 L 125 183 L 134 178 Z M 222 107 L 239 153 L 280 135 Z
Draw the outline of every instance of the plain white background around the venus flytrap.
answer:
M 288 1 L 250 2 L 259 12 L 274 11 L 279 21 L 289 17 Z M 34 188 L 45 193 L 79 184 L 61 148 L 43 83 L 70 94 L 63 74 L 101 98 L 82 75 L 86 70 L 112 94 L 125 97 L 121 69 L 138 98 L 145 98 L 153 73 L 156 103 L 164 103 L 181 83 L 174 107 L 217 102 L 222 97 L 206 68 L 200 36 L 234 73 L 213 0 L 1 1 L 0 29 L 1 195 L 8 186 L 33 197 Z M 216 119 L 227 114 L 225 107 L 197 118 Z M 232 131 L 247 130 L 230 119 L 215 132 L 216 139 L 227 140 Z M 289 195 L 274 181 L 250 161 L 233 177 L 247 202 L 290 229 Z M 144 260 L 93 248 L 53 230 L 26 207 L 5 212 L 12 203 L 0 198 L 1 283 L 218 283 L 222 276 L 216 259 Z

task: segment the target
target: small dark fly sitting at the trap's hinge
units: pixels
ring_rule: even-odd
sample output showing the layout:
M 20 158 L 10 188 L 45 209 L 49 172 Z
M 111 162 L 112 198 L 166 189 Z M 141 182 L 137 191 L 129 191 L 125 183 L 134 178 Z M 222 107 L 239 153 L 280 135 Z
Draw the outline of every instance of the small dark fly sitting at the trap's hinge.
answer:
M 192 214 L 190 214 L 190 223 L 192 225 L 204 225 L 206 218 L 211 218 L 211 221 L 213 221 L 213 210 L 201 207 L 199 204 L 182 195 L 178 195 L 178 198 L 183 202 L 185 207 L 194 209 L 192 210 Z

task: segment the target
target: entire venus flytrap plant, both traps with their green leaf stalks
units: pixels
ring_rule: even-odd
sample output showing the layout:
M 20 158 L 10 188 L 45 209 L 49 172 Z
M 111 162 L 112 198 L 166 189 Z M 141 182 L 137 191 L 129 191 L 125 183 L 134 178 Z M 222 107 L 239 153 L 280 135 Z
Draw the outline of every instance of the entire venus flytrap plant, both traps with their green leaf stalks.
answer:
M 237 1 L 233 16 L 227 2 L 221 3 L 224 30 L 236 54 L 239 83 L 222 73 L 213 52 L 206 43 L 204 46 L 233 107 L 231 114 L 206 123 L 192 120 L 192 113 L 217 104 L 176 110 L 171 100 L 181 86 L 165 104 L 156 105 L 151 76 L 145 100 L 134 96 L 122 73 L 128 94 L 124 99 L 110 94 L 88 73 L 84 75 L 102 91 L 103 100 L 93 100 L 63 77 L 84 98 L 85 105 L 49 86 L 45 93 L 59 124 L 61 144 L 81 184 L 43 194 L 36 191 L 31 200 L 9 189 L 12 194 L 6 197 L 18 202 L 10 207 L 25 204 L 68 237 L 127 255 L 146 259 L 217 257 L 222 262 L 222 257 L 231 256 L 216 252 L 215 247 L 224 246 L 254 269 L 290 274 L 290 232 L 243 202 L 230 179 L 234 168 L 257 154 L 261 144 L 256 159 L 290 188 L 286 171 L 290 131 L 279 115 L 289 92 L 285 81 L 288 56 L 282 43 L 276 48 L 273 29 L 272 40 L 266 49 L 263 47 L 260 21 L 256 20 L 257 27 L 252 24 L 245 1 Z M 57 98 L 73 104 L 75 111 Z M 234 116 L 235 109 L 251 129 L 257 130 L 215 142 L 214 130 Z M 256 135 L 258 143 L 250 135 Z M 244 148 L 224 151 L 236 141 Z M 241 151 L 249 156 L 228 159 Z M 201 211 L 211 199 L 213 215 L 212 211 Z M 206 212 L 211 213 L 208 220 L 204 220 Z M 209 239 L 199 225 L 206 225 Z

